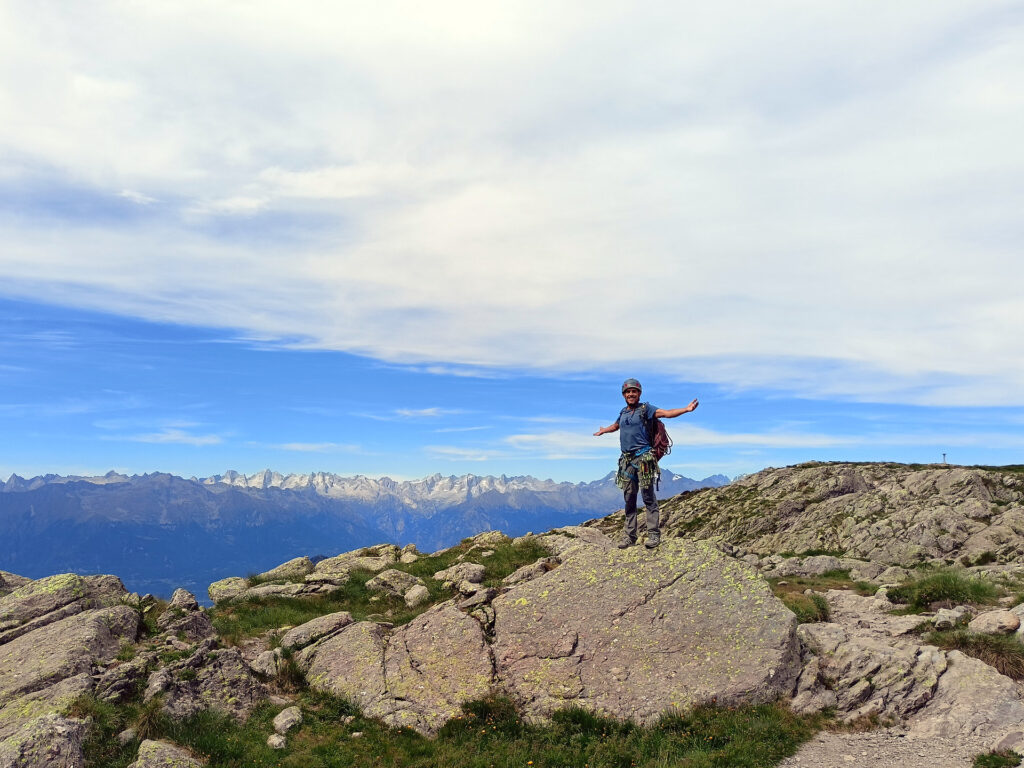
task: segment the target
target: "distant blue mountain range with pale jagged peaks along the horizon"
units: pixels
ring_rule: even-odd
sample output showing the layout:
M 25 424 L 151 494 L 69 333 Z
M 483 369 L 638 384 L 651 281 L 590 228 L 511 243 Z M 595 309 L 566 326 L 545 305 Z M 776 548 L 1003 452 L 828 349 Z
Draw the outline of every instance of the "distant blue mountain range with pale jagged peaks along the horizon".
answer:
M 664 471 L 659 496 L 728 483 Z M 82 477 L 12 475 L 0 482 L 0 569 L 119 573 L 129 589 L 199 594 L 225 575 L 300 555 L 382 541 L 434 551 L 482 530 L 518 536 L 622 507 L 613 474 L 591 482 L 530 476 L 431 475 L 392 480 L 328 472 L 227 471 Z

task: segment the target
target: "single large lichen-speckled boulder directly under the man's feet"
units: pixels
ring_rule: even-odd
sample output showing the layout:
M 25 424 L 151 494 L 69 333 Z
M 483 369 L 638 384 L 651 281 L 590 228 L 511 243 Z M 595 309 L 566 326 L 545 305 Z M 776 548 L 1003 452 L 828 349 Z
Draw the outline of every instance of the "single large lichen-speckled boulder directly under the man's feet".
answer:
M 575 705 L 650 723 L 793 690 L 796 618 L 750 565 L 708 542 L 602 545 L 567 548 L 492 603 L 499 676 L 527 717 Z

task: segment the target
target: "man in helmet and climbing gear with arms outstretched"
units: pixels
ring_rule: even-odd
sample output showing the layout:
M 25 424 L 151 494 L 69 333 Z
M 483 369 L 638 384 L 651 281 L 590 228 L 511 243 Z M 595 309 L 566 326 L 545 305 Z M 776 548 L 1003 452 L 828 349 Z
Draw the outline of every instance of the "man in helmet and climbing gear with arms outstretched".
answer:
M 623 382 L 623 397 L 626 408 L 618 412 L 614 424 L 601 427 L 594 432 L 602 435 L 606 432 L 618 432 L 618 443 L 623 450 L 618 457 L 618 472 L 615 484 L 623 489 L 626 501 L 626 530 L 618 549 L 632 547 L 637 543 L 637 492 L 643 494 L 644 508 L 647 515 L 647 549 L 654 549 L 662 542 L 662 529 L 658 521 L 657 499 L 654 498 L 654 481 L 660 477 L 662 470 L 650 444 L 650 421 L 658 419 L 675 419 L 688 414 L 697 407 L 694 398 L 686 408 L 676 408 L 666 411 L 654 408 L 649 402 L 640 402 L 642 388 L 636 379 Z

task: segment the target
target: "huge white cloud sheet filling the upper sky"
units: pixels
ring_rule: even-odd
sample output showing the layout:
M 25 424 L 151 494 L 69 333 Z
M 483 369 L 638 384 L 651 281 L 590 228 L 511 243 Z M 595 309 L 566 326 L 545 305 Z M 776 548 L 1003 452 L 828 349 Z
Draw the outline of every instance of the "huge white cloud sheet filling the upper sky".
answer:
M 467 375 L 1024 396 L 1009 1 L 12 2 L 0 66 L 0 184 L 152 217 L 7 219 L 9 295 Z

